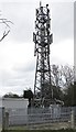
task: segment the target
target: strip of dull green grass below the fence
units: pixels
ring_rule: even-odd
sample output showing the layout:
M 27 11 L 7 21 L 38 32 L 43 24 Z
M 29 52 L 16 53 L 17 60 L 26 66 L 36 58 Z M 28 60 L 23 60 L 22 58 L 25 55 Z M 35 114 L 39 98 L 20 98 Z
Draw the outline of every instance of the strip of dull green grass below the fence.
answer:
M 68 129 L 69 128 L 69 129 Z M 70 123 L 45 123 L 44 124 L 35 124 L 35 125 L 22 125 L 22 127 L 9 127 L 8 130 L 2 132 L 76 132 L 75 130 L 70 129 Z

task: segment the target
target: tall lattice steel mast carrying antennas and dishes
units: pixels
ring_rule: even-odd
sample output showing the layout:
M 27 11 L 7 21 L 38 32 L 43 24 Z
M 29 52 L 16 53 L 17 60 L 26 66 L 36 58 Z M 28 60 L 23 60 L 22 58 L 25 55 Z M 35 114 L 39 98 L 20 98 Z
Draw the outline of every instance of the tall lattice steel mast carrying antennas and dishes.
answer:
M 45 101 L 47 106 L 52 99 L 50 44 L 53 41 L 48 4 L 42 7 L 40 2 L 40 8 L 36 9 L 33 41 L 35 43 L 34 56 L 36 56 L 34 99 L 40 100 L 41 105 L 44 105 Z

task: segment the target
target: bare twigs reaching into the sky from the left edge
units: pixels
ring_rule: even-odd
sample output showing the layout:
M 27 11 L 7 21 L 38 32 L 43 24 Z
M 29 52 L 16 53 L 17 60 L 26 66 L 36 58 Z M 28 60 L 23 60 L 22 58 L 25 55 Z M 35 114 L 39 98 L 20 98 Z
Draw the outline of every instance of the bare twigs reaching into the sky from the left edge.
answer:
M 3 33 L 2 33 L 2 35 L 0 37 L 0 42 L 9 34 L 9 32 L 10 32 L 10 23 L 12 23 L 12 22 L 7 20 L 7 19 L 3 19 L 1 16 L 1 14 L 0 14 L 0 24 L 4 25 L 4 30 L 3 30 Z

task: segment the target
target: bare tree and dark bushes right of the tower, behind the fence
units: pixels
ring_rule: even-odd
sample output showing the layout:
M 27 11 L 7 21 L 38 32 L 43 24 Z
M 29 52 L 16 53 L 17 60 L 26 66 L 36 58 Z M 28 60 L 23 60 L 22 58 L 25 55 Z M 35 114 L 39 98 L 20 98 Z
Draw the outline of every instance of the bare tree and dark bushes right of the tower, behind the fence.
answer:
M 74 67 L 51 66 L 53 98 L 64 101 L 65 106 L 76 105 L 76 85 L 74 84 Z

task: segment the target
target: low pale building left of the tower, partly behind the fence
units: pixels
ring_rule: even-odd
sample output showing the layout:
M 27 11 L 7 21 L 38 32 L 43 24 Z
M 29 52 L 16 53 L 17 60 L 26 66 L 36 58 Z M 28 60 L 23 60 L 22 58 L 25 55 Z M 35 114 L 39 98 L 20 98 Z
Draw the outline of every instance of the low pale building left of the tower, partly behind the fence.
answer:
M 9 113 L 9 124 L 24 124 L 28 122 L 29 100 L 24 98 L 3 98 L 2 107 Z

